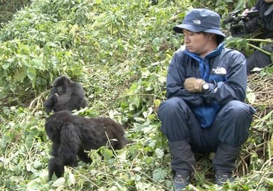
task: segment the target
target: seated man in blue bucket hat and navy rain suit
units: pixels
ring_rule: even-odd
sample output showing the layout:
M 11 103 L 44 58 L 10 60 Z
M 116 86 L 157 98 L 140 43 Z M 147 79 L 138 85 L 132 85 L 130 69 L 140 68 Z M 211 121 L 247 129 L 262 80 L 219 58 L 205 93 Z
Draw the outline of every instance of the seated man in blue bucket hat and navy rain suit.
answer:
M 168 138 L 176 190 L 190 183 L 193 153 L 215 152 L 215 182 L 232 181 L 240 146 L 247 140 L 255 109 L 244 103 L 245 57 L 224 48 L 220 16 L 193 9 L 181 25 L 186 50 L 178 50 L 168 67 L 166 101 L 159 106 L 161 131 Z

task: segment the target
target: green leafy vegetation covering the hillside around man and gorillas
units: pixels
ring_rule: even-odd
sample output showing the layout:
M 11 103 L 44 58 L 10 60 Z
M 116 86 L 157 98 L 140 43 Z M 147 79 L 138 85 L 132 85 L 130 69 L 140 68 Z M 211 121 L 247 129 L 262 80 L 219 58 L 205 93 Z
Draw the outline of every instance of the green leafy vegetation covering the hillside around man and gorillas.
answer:
M 183 39 L 171 28 L 188 9 L 223 18 L 245 1 L 33 0 L 0 31 L 1 190 L 172 190 L 166 138 L 156 109 L 165 98 L 168 62 Z M 250 5 L 254 1 L 250 1 Z M 223 26 L 224 27 L 224 26 Z M 228 30 L 228 28 L 226 28 Z M 253 51 L 252 39 L 227 45 Z M 50 141 L 43 102 L 50 84 L 68 75 L 85 87 L 89 106 L 77 114 L 109 116 L 134 143 L 100 148 L 87 165 L 47 182 Z M 236 179 L 213 184 L 210 156 L 198 159 L 189 190 L 272 190 L 272 68 L 250 76 L 247 102 L 257 109 Z

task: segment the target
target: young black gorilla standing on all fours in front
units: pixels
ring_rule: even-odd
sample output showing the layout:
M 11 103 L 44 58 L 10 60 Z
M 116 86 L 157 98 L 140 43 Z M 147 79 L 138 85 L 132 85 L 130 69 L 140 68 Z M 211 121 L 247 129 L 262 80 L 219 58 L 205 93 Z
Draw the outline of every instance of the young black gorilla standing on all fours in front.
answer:
M 52 141 L 53 158 L 48 163 L 48 178 L 53 173 L 60 178 L 64 166 L 77 166 L 77 156 L 85 163 L 91 163 L 85 151 L 106 146 L 109 141 L 112 148 L 120 149 L 129 143 L 124 137 L 124 129 L 112 119 L 105 117 L 86 118 L 70 114 L 70 111 L 58 111 L 45 121 L 45 132 Z

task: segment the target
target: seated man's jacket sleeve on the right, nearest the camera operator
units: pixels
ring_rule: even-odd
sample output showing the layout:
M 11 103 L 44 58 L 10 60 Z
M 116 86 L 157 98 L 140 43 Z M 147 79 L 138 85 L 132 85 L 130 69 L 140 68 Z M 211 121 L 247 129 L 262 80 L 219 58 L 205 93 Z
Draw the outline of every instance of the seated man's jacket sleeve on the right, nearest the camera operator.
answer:
M 215 82 L 215 87 L 203 95 L 205 102 L 217 102 L 220 105 L 231 100 L 245 101 L 247 88 L 246 59 L 237 50 L 229 50 L 221 60 L 228 62 L 225 82 Z

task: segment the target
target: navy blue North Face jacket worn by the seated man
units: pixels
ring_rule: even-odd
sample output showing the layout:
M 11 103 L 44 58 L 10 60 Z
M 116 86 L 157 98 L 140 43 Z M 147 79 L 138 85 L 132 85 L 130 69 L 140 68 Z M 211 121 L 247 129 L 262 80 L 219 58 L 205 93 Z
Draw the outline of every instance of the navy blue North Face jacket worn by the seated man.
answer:
M 209 82 L 206 94 L 191 93 L 183 88 L 184 80 L 196 77 Z M 231 100 L 245 101 L 247 72 L 245 56 L 237 50 L 218 45 L 200 58 L 188 50 L 178 50 L 168 67 L 167 98 L 181 97 L 196 114 L 203 128 L 213 124 L 219 109 Z

